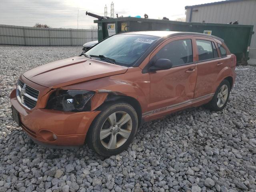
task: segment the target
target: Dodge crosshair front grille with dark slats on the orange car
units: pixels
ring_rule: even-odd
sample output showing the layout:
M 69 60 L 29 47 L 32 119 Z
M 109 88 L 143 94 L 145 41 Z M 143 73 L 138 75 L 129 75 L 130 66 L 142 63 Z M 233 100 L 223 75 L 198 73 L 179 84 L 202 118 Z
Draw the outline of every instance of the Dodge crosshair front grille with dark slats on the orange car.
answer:
M 28 109 L 36 106 L 39 91 L 18 80 L 16 96 L 18 101 Z

